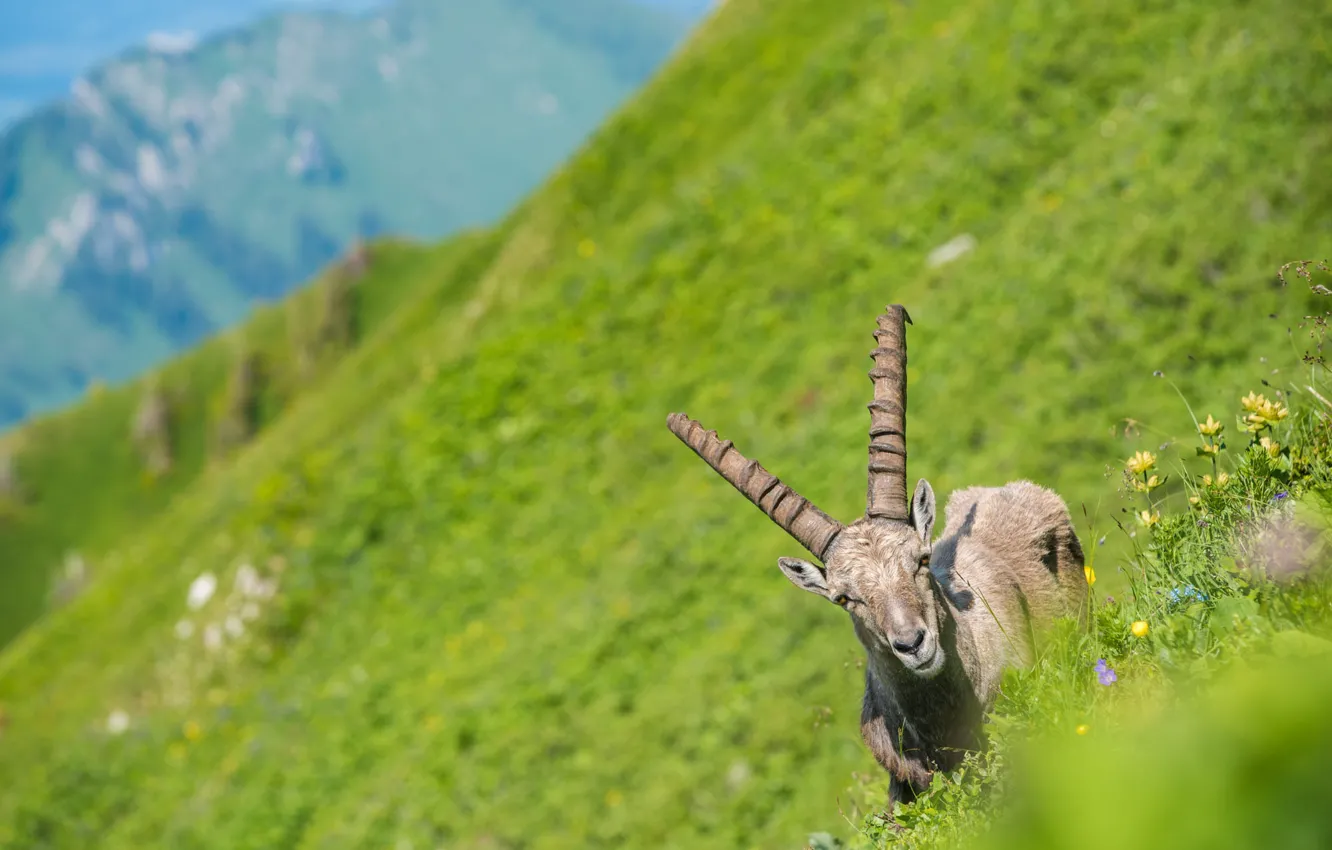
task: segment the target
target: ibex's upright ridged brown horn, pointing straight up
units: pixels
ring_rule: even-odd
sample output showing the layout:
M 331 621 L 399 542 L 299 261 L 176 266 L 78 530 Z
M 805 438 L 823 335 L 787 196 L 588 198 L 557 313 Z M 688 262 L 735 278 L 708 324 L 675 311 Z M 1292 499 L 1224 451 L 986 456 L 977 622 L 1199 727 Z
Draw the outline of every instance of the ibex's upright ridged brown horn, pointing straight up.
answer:
M 907 325 L 900 304 L 886 308 L 870 352 L 870 490 L 864 516 L 907 521 Z

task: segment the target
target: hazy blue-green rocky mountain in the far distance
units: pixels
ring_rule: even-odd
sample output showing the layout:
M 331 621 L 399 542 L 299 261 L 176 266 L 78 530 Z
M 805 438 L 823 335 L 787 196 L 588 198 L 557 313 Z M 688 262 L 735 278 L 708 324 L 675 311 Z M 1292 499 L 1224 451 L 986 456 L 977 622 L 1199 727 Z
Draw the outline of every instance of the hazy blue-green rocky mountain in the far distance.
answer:
M 490 222 L 674 48 L 629 0 L 400 0 L 135 49 L 0 136 L 0 426 L 288 292 Z

